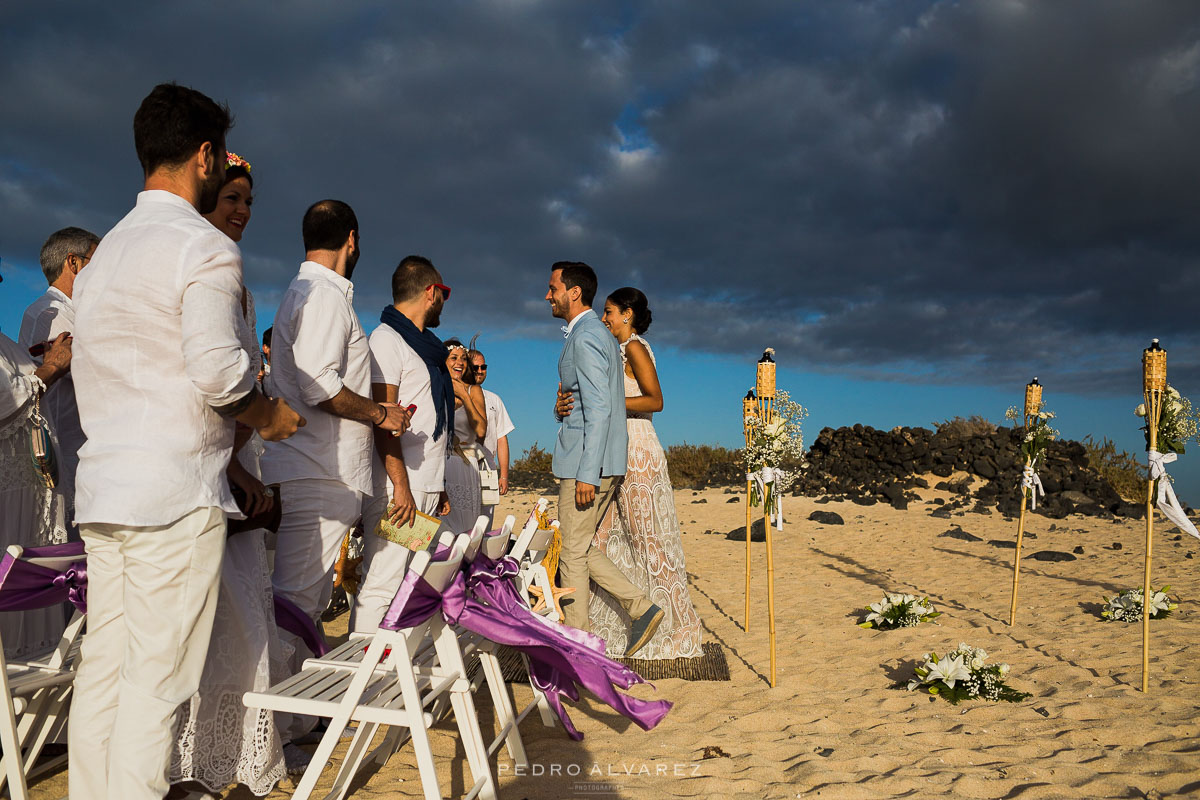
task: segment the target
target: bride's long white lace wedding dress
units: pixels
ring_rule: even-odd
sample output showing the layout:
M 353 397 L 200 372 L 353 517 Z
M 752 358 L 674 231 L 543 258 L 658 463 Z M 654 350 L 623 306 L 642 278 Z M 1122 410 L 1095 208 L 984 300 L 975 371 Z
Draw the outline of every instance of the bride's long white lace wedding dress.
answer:
M 624 360 L 629 342 L 641 342 L 650 361 L 654 351 L 636 333 L 620 345 Z M 641 397 L 637 380 L 625 373 L 625 397 Z M 667 475 L 667 457 L 654 432 L 652 414 L 626 413 L 629 465 L 593 547 L 600 547 L 634 585 L 646 591 L 666 613 L 638 658 L 660 660 L 702 655 L 700 616 L 688 593 L 679 521 Z M 623 656 L 629 646 L 630 619 L 620 604 L 600 587 L 592 585 L 588 603 L 592 632 L 602 638 L 610 656 Z

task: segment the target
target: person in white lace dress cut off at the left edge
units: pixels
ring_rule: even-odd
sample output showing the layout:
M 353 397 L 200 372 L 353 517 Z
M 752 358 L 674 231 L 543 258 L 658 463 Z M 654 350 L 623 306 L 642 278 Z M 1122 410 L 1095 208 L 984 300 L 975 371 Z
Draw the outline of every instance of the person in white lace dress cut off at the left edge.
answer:
M 29 350 L 0 333 L 0 546 L 40 547 L 67 541 L 66 503 L 34 468 L 30 433 L 35 399 L 66 374 L 71 339 L 54 339 L 38 366 Z M 49 425 L 49 423 L 47 423 Z M 52 431 L 52 439 L 54 432 Z M 54 440 L 58 446 L 58 440 Z M 25 658 L 58 644 L 67 624 L 64 606 L 0 613 L 7 658 Z

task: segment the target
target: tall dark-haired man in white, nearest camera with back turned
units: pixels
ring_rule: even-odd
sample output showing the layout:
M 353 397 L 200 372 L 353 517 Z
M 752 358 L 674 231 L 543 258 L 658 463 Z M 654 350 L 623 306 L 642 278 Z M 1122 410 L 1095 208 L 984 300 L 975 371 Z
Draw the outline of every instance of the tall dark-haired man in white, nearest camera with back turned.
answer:
M 304 425 L 264 397 L 242 349 L 241 255 L 200 213 L 224 176 L 227 108 L 162 84 L 133 139 L 137 205 L 76 282 L 76 519 L 88 634 L 68 733 L 76 800 L 162 798 L 175 709 L 199 685 L 216 609 L 234 420 Z

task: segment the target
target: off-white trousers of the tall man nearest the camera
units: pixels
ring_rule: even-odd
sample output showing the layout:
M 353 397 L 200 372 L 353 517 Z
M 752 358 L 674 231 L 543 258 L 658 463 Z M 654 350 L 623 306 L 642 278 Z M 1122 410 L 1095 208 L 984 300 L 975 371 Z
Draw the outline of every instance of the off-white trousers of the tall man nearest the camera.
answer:
M 68 728 L 74 800 L 167 794 L 175 709 L 196 693 L 217 604 L 226 516 L 80 525 L 88 633 Z

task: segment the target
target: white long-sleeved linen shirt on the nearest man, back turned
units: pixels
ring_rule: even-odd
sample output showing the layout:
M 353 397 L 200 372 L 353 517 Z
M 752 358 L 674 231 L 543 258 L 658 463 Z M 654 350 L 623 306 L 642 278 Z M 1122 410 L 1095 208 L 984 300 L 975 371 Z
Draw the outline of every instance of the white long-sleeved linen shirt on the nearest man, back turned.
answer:
M 254 386 L 238 339 L 238 246 L 184 198 L 142 192 L 76 278 L 74 308 L 71 373 L 88 437 L 76 522 L 238 515 L 224 477 L 234 425 L 212 410 Z

